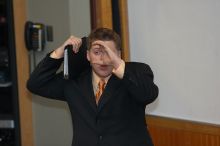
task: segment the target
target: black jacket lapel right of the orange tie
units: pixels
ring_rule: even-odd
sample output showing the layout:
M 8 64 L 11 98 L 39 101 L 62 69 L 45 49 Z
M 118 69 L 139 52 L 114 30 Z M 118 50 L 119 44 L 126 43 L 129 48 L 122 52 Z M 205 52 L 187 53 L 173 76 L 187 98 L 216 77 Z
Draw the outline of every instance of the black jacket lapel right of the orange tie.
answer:
M 114 74 L 111 76 L 111 78 L 109 79 L 104 92 L 101 95 L 99 104 L 98 104 L 98 111 L 100 111 L 105 104 L 111 99 L 113 98 L 114 94 L 117 93 L 117 90 L 119 89 L 120 86 L 120 79 L 117 78 Z

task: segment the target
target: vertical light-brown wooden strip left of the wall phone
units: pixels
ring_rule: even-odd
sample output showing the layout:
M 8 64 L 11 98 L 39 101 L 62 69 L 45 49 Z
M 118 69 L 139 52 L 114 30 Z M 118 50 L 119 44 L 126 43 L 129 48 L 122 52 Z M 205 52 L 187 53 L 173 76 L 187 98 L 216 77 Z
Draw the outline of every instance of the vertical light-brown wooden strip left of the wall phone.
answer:
M 15 46 L 16 46 L 16 61 L 17 61 L 21 145 L 33 146 L 32 101 L 31 101 L 31 94 L 26 89 L 26 81 L 29 77 L 28 52 L 24 44 L 26 1 L 13 0 L 13 7 L 14 7 Z

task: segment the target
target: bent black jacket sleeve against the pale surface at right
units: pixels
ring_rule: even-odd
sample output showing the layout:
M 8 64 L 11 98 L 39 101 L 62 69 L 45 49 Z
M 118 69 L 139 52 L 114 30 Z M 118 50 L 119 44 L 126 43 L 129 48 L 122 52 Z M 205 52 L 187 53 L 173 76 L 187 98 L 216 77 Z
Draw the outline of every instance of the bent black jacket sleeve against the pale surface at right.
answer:
M 123 82 L 130 95 L 143 104 L 153 102 L 159 93 L 151 68 L 144 63 L 126 63 Z

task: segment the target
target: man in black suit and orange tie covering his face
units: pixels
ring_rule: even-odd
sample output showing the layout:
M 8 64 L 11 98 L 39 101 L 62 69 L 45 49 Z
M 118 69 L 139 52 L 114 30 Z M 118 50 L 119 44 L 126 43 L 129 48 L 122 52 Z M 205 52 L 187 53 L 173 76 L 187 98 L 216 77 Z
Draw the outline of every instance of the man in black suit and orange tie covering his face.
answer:
M 91 67 L 86 71 L 69 80 L 56 73 L 66 45 L 73 45 L 75 53 L 83 50 L 79 49 L 82 40 L 72 36 L 38 64 L 27 88 L 68 103 L 73 122 L 72 146 L 153 146 L 145 107 L 157 98 L 158 87 L 150 67 L 124 62 L 120 37 L 111 29 L 94 30 L 87 43 L 85 56 Z M 103 83 L 103 93 L 99 82 Z

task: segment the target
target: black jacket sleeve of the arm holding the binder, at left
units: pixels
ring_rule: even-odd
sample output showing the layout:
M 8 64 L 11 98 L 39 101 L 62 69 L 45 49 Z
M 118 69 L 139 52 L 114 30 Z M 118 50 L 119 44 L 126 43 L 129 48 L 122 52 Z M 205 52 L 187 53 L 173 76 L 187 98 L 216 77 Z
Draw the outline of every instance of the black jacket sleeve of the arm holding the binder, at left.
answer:
M 63 59 L 53 59 L 49 54 L 37 65 L 27 81 L 27 88 L 34 94 L 64 99 L 64 79 L 61 73 L 56 74 Z

